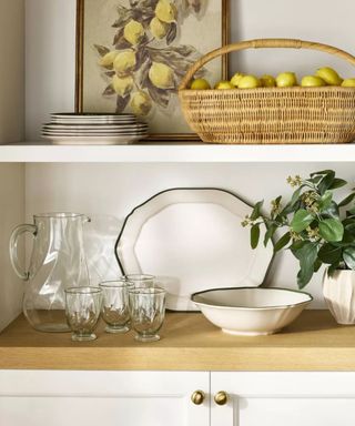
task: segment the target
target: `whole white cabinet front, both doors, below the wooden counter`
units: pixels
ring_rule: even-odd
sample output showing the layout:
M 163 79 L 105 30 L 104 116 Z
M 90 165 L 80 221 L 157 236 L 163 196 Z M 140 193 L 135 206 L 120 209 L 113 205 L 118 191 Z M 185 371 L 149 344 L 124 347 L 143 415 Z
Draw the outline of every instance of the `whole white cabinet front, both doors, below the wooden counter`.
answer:
M 355 373 L 0 372 L 1 426 L 100 424 L 354 426 Z

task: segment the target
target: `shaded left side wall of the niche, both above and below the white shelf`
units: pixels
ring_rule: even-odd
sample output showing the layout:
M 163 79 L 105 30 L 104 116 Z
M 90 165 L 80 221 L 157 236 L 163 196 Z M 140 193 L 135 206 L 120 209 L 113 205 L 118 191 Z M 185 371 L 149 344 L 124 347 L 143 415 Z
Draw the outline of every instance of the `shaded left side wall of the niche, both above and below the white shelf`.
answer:
M 0 144 L 4 144 L 24 138 L 24 0 L 0 0 Z M 11 268 L 8 245 L 12 229 L 23 219 L 24 166 L 1 163 L 0 331 L 21 312 L 22 283 Z

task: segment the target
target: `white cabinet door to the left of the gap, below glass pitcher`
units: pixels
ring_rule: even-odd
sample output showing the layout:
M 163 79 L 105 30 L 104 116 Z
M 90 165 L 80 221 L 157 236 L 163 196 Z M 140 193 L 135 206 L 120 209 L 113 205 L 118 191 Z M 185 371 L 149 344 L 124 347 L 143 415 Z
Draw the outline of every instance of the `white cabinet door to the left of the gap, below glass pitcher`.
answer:
M 0 372 L 0 425 L 207 426 L 209 373 Z

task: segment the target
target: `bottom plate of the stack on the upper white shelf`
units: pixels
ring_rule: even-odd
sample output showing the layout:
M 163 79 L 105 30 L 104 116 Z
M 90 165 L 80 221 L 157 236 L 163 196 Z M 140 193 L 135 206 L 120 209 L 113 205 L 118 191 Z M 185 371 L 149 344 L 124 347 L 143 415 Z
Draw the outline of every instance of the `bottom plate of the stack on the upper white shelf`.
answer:
M 55 145 L 129 145 L 145 138 L 145 134 L 126 136 L 54 136 L 43 134 L 42 138 Z

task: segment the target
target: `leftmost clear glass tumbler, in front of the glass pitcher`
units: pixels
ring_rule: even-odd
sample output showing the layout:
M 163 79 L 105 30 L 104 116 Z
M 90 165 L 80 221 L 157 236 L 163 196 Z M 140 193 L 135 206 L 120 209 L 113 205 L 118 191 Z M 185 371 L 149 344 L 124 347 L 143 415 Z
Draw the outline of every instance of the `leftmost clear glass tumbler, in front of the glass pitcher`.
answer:
M 65 290 L 65 313 L 74 342 L 94 341 L 93 333 L 100 317 L 102 291 L 99 287 L 70 287 Z

